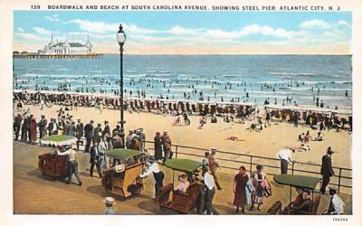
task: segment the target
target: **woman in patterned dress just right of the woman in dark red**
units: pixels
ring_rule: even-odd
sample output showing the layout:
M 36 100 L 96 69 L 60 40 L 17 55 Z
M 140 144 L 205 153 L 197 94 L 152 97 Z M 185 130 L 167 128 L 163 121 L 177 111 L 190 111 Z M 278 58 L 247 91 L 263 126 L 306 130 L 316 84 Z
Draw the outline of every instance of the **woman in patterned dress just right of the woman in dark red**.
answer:
M 256 165 L 257 172 L 252 174 L 252 206 L 250 211 L 254 208 L 254 204 L 257 204 L 257 209 L 260 211 L 262 205 L 262 199 L 264 198 L 264 189 L 266 184 L 266 174 L 262 172 L 262 165 Z

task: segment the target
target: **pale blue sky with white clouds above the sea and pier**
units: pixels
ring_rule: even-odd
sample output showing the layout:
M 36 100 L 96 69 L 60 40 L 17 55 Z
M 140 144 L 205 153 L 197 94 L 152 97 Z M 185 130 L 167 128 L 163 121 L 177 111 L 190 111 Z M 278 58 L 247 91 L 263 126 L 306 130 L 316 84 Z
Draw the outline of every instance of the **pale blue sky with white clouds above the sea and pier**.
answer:
M 346 12 L 14 12 L 14 50 L 36 52 L 50 41 L 90 41 L 118 52 L 119 23 L 127 53 L 348 53 Z M 26 42 L 24 42 L 26 40 Z

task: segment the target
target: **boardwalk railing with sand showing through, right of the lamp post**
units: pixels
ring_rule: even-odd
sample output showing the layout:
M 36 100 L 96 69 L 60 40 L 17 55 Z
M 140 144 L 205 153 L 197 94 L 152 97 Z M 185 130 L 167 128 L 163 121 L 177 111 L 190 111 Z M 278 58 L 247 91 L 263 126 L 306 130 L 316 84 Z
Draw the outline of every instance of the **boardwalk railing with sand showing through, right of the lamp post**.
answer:
M 154 149 L 152 141 L 146 141 L 146 143 L 148 149 Z M 172 145 L 172 151 L 174 158 L 192 157 L 194 159 L 198 158 L 201 161 L 205 157 L 205 152 L 209 151 L 209 149 L 195 146 Z M 216 157 L 222 169 L 233 171 L 233 173 L 237 171 L 241 165 L 244 165 L 251 172 L 256 170 L 256 165 L 263 165 L 268 174 L 280 174 L 281 160 L 278 158 L 225 152 L 221 150 L 217 150 Z M 321 165 L 319 164 L 294 161 L 289 165 L 288 170 L 291 174 L 321 177 L 320 167 Z M 338 192 L 352 193 L 352 170 L 345 167 L 333 167 L 333 169 L 336 174 L 331 177 L 329 184 L 338 186 Z

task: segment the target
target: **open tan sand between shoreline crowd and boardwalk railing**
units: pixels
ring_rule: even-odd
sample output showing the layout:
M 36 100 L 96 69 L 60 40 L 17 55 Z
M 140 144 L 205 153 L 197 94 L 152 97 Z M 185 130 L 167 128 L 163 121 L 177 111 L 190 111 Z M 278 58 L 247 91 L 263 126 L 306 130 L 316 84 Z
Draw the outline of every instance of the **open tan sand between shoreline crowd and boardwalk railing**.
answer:
M 43 108 L 39 106 L 27 106 L 30 108 L 35 117 L 40 118 L 44 114 L 48 120 L 56 118 L 56 111 L 59 106 L 52 106 L 52 108 Z M 102 123 L 103 121 L 110 121 L 110 128 L 113 129 L 119 121 L 119 110 L 103 108 L 102 113 L 96 108 L 78 108 L 78 110 L 70 110 L 69 114 L 73 119 L 81 118 L 85 125 L 93 119 L 95 123 Z M 289 123 L 271 122 L 270 127 L 264 128 L 260 132 L 249 131 L 249 122 L 245 124 L 238 123 L 225 123 L 223 118 L 218 118 L 216 124 L 209 121 L 202 129 L 199 129 L 200 116 L 191 116 L 190 126 L 173 126 L 176 117 L 154 115 L 147 112 L 133 112 L 125 111 L 125 131 L 128 133 L 129 129 L 136 129 L 143 127 L 145 129 L 146 139 L 153 141 L 153 137 L 157 131 L 168 131 L 172 139 L 173 145 L 181 146 L 195 146 L 201 148 L 215 147 L 221 151 L 233 152 L 236 154 L 259 155 L 265 157 L 276 157 L 276 153 L 283 148 L 283 146 L 300 146 L 298 136 L 310 130 L 311 137 L 317 137 L 317 130 L 311 130 L 310 127 L 300 126 L 293 127 Z M 337 153 L 333 155 L 333 165 L 336 167 L 351 168 L 351 135 L 348 131 L 336 132 L 336 129 L 323 131 L 324 140 L 321 142 L 312 141 L 308 145 L 310 151 L 296 152 L 292 155 L 293 160 L 321 164 L 321 157 L 326 153 L 327 147 L 331 146 Z M 238 137 L 240 141 L 228 140 L 227 137 Z M 183 150 L 185 152 L 185 150 Z M 202 151 L 192 149 L 186 150 L 189 153 L 203 155 Z M 220 158 L 228 157 L 231 155 L 218 155 Z M 188 156 L 190 157 L 190 156 Z M 200 158 L 199 158 L 200 159 Z M 234 160 L 245 160 L 243 157 L 233 156 Z M 262 163 L 263 164 L 263 163 Z M 317 170 L 315 168 L 315 170 Z

